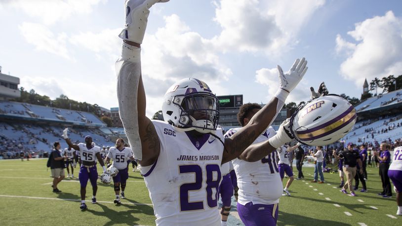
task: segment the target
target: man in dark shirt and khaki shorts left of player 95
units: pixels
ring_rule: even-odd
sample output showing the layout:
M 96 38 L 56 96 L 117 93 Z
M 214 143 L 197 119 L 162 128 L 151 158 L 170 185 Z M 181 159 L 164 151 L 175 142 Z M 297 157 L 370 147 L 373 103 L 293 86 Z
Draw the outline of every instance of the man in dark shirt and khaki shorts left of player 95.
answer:
M 50 170 L 52 172 L 53 177 L 53 192 L 61 192 L 57 185 L 64 179 L 64 160 L 67 159 L 67 156 L 61 156 L 60 152 L 60 143 L 54 142 L 53 151 L 50 153 Z

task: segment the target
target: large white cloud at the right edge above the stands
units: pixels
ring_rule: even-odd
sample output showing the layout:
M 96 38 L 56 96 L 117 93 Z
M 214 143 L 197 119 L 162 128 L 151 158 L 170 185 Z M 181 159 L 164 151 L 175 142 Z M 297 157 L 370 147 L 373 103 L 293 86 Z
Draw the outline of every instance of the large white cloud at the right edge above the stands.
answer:
M 340 66 L 340 74 L 356 86 L 364 78 L 400 75 L 402 71 L 402 19 L 392 11 L 384 16 L 375 16 L 355 24 L 355 30 L 348 32 L 356 43 L 343 39 L 336 42 L 337 52 L 353 50 Z M 351 46 L 355 46 L 350 48 Z M 338 51 L 339 50 L 339 51 Z

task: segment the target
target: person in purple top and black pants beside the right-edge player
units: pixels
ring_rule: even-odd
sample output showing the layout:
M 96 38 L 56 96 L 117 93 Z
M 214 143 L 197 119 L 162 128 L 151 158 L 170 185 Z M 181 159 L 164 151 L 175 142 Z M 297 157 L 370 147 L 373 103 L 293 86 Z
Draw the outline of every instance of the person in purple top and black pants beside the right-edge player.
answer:
M 379 195 L 382 195 L 384 198 L 392 197 L 391 183 L 390 178 L 388 177 L 388 169 L 390 167 L 390 161 L 391 161 L 391 153 L 389 151 L 390 149 L 391 146 L 389 144 L 381 143 L 380 145 L 381 154 L 379 154 L 377 151 L 374 152 L 374 154 L 378 158 L 378 161 L 380 162 L 379 174 L 381 177 L 382 192 L 379 193 Z

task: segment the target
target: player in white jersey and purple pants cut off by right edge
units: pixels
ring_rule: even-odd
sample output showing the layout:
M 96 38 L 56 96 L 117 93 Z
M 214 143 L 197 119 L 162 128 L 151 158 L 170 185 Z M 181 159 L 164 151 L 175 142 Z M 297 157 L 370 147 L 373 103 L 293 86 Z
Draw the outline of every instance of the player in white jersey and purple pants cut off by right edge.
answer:
M 397 193 L 397 215 L 402 216 L 402 146 L 394 149 L 390 168 L 388 168 L 388 177 L 394 184 L 394 190 Z

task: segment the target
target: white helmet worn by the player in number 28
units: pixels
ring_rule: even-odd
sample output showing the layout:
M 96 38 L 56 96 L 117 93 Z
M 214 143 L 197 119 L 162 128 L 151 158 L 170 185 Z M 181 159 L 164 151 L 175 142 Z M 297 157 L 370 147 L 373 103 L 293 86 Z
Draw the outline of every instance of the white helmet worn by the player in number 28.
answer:
M 185 78 L 167 90 L 162 115 L 175 127 L 209 133 L 218 125 L 219 100 L 205 82 Z

